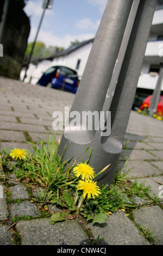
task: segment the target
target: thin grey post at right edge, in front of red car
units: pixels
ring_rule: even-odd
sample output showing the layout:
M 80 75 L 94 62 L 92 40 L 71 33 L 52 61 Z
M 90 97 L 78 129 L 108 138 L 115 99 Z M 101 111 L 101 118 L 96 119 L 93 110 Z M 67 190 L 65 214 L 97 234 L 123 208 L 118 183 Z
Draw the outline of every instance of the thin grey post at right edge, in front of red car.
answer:
M 160 93 L 161 93 L 162 78 L 163 78 L 163 64 L 161 63 L 158 81 L 157 81 L 156 87 L 153 91 L 151 104 L 148 108 L 149 115 L 151 115 L 151 116 L 153 116 L 153 114 L 155 114 L 157 111 L 158 102 L 159 102 Z

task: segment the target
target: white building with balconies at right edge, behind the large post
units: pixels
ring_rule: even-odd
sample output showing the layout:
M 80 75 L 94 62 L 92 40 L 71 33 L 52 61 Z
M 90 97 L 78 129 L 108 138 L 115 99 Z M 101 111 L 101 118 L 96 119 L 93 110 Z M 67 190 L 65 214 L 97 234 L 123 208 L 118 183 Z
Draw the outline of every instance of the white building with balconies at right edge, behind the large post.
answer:
M 141 75 L 137 84 L 137 95 L 145 97 L 153 93 L 159 77 L 160 63 L 163 62 L 163 1 L 156 5 L 151 32 L 146 47 Z M 161 86 L 163 91 L 163 81 Z M 162 93 L 162 92 L 161 92 Z

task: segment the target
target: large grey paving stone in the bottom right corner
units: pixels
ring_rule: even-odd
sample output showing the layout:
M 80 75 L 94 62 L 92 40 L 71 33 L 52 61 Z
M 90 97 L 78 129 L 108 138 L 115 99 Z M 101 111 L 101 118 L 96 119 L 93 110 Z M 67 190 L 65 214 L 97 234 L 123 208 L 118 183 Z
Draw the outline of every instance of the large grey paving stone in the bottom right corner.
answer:
M 153 231 L 156 245 L 163 245 L 163 210 L 159 206 L 140 208 L 133 212 L 137 224 Z

